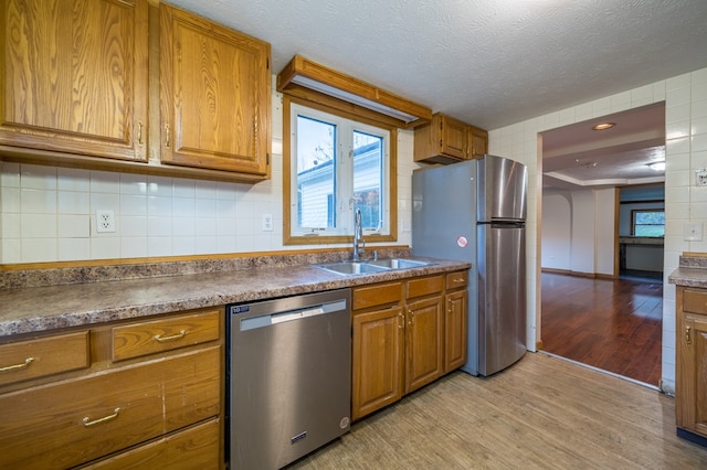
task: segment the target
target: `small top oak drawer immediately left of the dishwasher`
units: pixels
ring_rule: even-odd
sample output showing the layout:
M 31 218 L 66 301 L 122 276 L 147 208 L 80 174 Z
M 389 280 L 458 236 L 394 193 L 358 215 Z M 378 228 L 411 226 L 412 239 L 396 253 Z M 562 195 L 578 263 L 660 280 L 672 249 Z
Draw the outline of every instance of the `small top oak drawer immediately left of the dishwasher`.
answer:
M 112 330 L 113 361 L 215 341 L 219 339 L 220 313 L 214 309 L 115 327 Z

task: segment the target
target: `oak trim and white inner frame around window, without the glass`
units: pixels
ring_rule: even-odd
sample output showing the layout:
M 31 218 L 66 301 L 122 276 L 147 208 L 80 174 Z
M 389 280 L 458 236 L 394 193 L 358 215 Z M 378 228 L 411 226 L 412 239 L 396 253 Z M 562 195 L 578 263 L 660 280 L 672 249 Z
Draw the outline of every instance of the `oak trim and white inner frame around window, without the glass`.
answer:
M 321 245 L 321 244 L 344 244 L 354 241 L 352 216 L 350 223 L 346 223 L 346 233 L 336 235 L 320 235 L 316 233 L 297 233 L 293 232 L 292 217 L 293 211 L 297 211 L 296 201 L 293 201 L 292 190 L 294 178 L 293 172 L 296 169 L 292 163 L 292 132 L 293 124 L 291 122 L 292 105 L 298 105 L 310 108 L 315 111 L 327 113 L 339 118 L 360 122 L 366 126 L 373 126 L 389 132 L 388 138 L 388 179 L 387 179 L 387 206 L 383 211 L 388 214 L 388 233 L 366 233 L 367 242 L 397 242 L 398 241 L 398 127 L 391 125 L 389 119 L 377 120 L 369 114 L 357 114 L 355 111 L 346 111 L 338 107 L 328 106 L 323 103 L 303 99 L 293 95 L 283 95 L 283 245 Z M 386 158 L 386 157 L 383 157 Z M 293 203 L 295 206 L 293 206 Z

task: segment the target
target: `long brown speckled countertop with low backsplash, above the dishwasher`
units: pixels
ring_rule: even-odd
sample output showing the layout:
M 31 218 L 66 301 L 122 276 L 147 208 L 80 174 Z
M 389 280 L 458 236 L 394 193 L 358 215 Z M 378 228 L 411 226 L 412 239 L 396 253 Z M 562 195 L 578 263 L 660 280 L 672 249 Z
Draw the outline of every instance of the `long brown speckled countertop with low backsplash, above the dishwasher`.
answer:
M 393 253 L 389 257 L 402 257 Z M 404 255 L 403 255 L 404 256 Z M 404 256 L 412 258 L 411 256 Z M 266 258 L 266 259 L 265 259 Z M 220 307 L 467 269 L 463 261 L 420 258 L 432 265 L 341 276 L 309 266 L 312 256 L 0 273 L 0 337 Z

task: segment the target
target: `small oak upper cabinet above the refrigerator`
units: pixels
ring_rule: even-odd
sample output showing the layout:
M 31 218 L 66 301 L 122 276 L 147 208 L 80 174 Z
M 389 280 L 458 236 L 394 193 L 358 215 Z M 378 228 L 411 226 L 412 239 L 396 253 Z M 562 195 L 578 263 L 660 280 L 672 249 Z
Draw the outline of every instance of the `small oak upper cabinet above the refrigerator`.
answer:
M 453 163 L 479 158 L 486 153 L 487 142 L 485 130 L 436 113 L 430 124 L 415 128 L 414 160 Z

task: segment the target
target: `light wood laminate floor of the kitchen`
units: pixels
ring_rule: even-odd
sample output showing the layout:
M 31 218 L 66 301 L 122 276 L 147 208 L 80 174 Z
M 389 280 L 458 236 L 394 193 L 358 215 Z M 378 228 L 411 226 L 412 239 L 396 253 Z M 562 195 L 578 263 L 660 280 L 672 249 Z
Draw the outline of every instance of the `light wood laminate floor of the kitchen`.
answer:
M 675 400 L 527 353 L 487 378 L 455 372 L 289 469 L 705 469 L 675 436 Z

